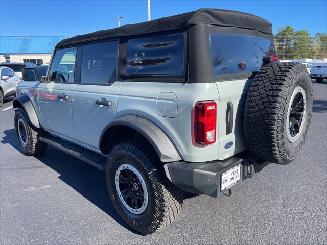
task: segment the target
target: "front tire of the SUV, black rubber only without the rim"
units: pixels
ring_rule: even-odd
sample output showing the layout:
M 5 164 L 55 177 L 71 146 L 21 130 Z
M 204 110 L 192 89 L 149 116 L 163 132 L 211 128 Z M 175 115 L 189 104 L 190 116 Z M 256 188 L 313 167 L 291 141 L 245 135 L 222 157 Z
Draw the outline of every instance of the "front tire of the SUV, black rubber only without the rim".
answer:
M 26 130 L 27 130 L 27 144 L 24 145 L 20 142 L 19 133 L 18 133 L 18 120 L 22 119 L 25 123 Z M 15 124 L 15 130 L 16 130 L 16 137 L 18 140 L 18 144 L 20 146 L 20 149 L 22 153 L 24 153 L 27 156 L 34 156 L 42 154 L 45 150 L 48 144 L 42 142 L 39 140 L 40 136 L 43 136 L 45 132 L 42 129 L 36 129 L 34 126 L 32 126 L 26 112 L 22 108 L 17 108 L 15 111 L 15 117 L 14 117 L 14 124 Z

